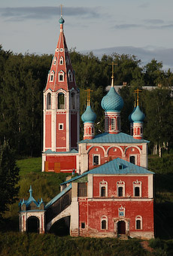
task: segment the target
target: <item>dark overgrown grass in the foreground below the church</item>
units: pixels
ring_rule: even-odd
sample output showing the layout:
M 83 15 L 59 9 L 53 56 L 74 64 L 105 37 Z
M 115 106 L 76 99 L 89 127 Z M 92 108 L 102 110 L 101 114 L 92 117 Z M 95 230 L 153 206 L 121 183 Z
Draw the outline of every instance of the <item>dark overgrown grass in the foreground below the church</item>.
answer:
M 129 239 L 94 239 L 53 236 L 52 234 L 37 235 L 34 233 L 0 233 L 0 254 L 16 256 L 114 256 L 114 255 L 154 255 L 144 251 L 140 241 Z M 165 251 L 163 251 L 165 252 Z M 159 254 L 160 255 L 160 254 Z M 162 254 L 164 255 L 164 254 Z

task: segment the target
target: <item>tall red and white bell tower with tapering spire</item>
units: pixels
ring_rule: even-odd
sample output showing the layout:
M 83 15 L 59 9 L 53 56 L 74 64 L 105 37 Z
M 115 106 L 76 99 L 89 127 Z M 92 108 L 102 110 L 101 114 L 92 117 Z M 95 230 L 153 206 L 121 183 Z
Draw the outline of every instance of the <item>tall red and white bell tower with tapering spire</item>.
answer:
M 59 40 L 44 89 L 43 152 L 52 154 L 77 150 L 80 133 L 79 90 L 65 41 L 64 23 L 61 9 Z

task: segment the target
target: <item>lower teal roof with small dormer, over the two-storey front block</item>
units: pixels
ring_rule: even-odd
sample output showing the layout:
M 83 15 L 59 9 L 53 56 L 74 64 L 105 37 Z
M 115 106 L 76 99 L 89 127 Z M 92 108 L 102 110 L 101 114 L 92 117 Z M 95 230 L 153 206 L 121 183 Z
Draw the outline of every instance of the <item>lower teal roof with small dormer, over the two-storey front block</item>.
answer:
M 141 166 L 136 166 L 135 164 L 129 163 L 126 160 L 123 160 L 121 158 L 116 158 L 108 163 L 103 164 L 102 166 L 96 167 L 95 169 L 91 169 L 88 172 L 84 172 L 82 175 L 71 178 L 70 180 L 63 182 L 62 184 L 68 184 L 88 174 L 105 174 L 105 175 L 139 174 L 140 175 L 140 174 L 154 174 L 154 172 L 150 172 Z

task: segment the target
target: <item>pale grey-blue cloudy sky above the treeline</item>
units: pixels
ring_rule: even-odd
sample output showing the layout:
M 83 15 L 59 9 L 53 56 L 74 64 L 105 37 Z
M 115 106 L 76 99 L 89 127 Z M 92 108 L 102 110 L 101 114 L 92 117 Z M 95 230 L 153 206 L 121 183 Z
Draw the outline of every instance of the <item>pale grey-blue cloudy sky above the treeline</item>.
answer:
M 0 0 L 0 44 L 14 53 L 54 53 L 60 5 L 68 49 L 113 52 L 173 69 L 173 0 Z

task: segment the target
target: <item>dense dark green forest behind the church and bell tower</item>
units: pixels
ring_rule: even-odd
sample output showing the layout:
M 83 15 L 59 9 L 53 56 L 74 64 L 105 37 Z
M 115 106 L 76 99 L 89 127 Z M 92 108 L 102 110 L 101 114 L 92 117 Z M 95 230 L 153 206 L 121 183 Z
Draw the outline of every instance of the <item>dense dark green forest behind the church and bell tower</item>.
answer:
M 86 108 L 86 89 L 93 90 L 91 104 L 97 114 L 96 133 L 104 132 L 104 111 L 100 102 L 105 88 L 111 84 L 111 62 L 114 84 L 126 84 L 120 89 L 124 100 L 121 111 L 122 131 L 129 133 L 128 116 L 135 101 L 134 90 L 143 86 L 156 87 L 142 90 L 140 107 L 145 114 L 144 139 L 150 140 L 151 154 L 173 151 L 173 73 L 164 71 L 162 62 L 152 59 L 142 66 L 141 59 L 126 54 L 112 53 L 102 59 L 93 53 L 82 54 L 70 50 L 77 87 L 80 89 L 80 114 Z M 42 102 L 52 55 L 16 54 L 3 50 L 0 45 L 0 144 L 8 141 L 17 158 L 39 157 L 42 151 Z M 83 123 L 80 122 L 80 139 Z

